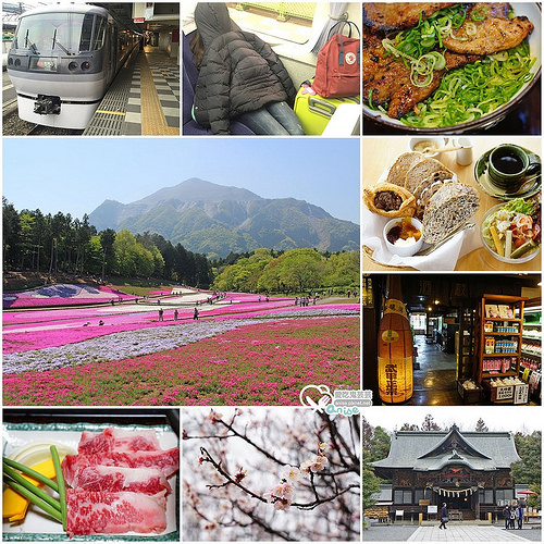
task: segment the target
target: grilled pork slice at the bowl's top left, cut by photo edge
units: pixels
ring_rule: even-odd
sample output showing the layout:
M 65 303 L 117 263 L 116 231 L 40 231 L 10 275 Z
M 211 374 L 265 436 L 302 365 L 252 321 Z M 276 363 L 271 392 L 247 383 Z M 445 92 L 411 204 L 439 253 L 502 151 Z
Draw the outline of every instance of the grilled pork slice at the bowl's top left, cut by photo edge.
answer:
M 362 3 L 364 26 L 373 33 L 388 33 L 416 26 L 421 18 L 430 17 L 434 12 L 454 5 L 455 2 L 370 2 Z

